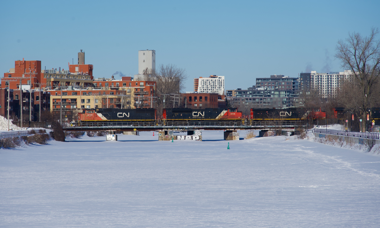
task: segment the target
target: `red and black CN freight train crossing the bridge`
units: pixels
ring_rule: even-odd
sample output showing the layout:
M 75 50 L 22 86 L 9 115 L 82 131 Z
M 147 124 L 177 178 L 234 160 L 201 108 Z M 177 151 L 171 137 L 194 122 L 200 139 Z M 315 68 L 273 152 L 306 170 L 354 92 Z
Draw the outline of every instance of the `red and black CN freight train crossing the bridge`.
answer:
M 370 119 L 378 121 L 380 117 L 379 108 L 373 108 Z M 96 108 L 83 109 L 79 113 L 79 123 L 81 122 L 221 122 L 233 121 L 242 123 L 249 121 L 267 121 L 273 119 L 282 120 L 306 120 L 306 119 L 325 119 L 326 112 L 321 109 L 313 111 L 305 111 L 302 108 L 285 108 L 285 109 L 269 109 L 269 108 L 252 108 L 250 115 L 242 115 L 237 108 L 165 108 L 163 115 L 158 116 L 157 110 L 153 108 L 141 109 L 116 109 L 116 108 Z M 344 108 L 334 108 L 331 116 L 328 118 L 344 119 L 346 111 Z

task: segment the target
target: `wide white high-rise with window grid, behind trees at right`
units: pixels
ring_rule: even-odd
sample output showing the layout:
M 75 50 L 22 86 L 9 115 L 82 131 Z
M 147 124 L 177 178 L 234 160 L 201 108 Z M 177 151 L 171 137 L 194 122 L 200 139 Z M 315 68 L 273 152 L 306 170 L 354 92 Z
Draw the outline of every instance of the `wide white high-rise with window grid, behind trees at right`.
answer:
M 345 70 L 344 72 L 310 73 L 310 89 L 318 90 L 322 97 L 331 97 L 342 86 L 343 82 L 353 80 L 353 72 Z M 301 81 L 305 81 L 302 80 Z

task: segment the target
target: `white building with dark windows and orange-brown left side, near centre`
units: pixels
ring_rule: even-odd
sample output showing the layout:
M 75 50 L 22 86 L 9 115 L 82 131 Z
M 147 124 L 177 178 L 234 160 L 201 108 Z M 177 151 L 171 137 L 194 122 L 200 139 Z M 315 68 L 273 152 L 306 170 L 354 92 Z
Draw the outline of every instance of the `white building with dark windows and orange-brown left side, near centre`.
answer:
M 210 75 L 208 78 L 194 78 L 194 91 L 224 95 L 224 76 Z

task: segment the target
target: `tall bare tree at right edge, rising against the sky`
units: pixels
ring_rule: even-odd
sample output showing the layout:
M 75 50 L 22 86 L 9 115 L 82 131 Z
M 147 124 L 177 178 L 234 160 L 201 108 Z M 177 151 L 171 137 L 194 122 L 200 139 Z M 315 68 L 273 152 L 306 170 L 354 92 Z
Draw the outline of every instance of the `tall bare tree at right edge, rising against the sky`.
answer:
M 348 38 L 339 40 L 336 46 L 335 57 L 340 59 L 342 67 L 353 71 L 353 81 L 351 89 L 358 92 L 352 93 L 351 99 L 358 102 L 349 108 L 358 112 L 366 120 L 368 109 L 376 105 L 380 100 L 378 93 L 380 76 L 380 41 L 375 40 L 379 33 L 378 28 L 371 28 L 369 36 L 363 37 L 359 33 L 348 33 Z M 347 87 L 350 86 L 346 86 Z M 347 91 L 342 92 L 347 94 Z M 348 105 L 347 105 L 348 106 Z M 366 122 L 363 122 L 362 131 L 366 129 Z

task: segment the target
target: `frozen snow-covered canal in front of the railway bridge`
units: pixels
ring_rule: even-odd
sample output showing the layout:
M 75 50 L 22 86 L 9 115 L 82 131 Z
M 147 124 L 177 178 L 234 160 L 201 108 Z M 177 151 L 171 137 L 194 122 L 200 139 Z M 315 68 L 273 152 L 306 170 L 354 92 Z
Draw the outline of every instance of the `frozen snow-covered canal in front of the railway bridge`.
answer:
M 241 133 L 243 136 L 244 133 Z M 380 227 L 380 157 L 285 137 L 0 150 L 0 227 Z

